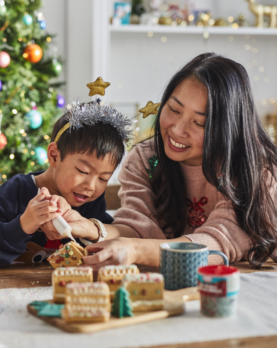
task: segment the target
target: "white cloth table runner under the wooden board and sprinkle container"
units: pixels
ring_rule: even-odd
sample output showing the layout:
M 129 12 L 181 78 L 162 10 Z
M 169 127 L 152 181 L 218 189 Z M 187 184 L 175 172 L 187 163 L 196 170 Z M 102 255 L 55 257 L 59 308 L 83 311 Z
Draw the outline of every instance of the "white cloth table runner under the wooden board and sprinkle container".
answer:
M 28 314 L 28 303 L 51 298 L 51 287 L 0 290 L 0 346 L 131 348 L 277 335 L 277 272 L 241 275 L 235 317 L 203 317 L 199 301 L 190 301 L 181 316 L 94 334 L 68 334 Z

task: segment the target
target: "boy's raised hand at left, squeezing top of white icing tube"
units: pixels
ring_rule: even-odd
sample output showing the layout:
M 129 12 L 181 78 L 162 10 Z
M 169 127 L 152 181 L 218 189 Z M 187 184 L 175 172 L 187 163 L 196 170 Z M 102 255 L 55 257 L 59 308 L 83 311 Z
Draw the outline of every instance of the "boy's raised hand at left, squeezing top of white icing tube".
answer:
M 49 191 L 42 188 L 38 195 L 30 200 L 25 212 L 20 216 L 20 226 L 26 234 L 34 233 L 42 224 L 60 216 L 57 203 L 49 199 Z

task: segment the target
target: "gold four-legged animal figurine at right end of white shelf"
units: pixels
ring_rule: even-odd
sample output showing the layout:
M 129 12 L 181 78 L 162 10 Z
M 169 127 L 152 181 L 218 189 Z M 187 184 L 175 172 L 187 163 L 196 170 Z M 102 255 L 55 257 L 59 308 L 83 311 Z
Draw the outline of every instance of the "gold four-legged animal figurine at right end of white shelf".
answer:
M 266 6 L 256 4 L 255 0 L 246 0 L 249 3 L 249 9 L 254 13 L 256 17 L 256 27 L 264 27 L 264 16 L 270 18 L 270 28 L 275 28 L 277 25 L 277 6 Z

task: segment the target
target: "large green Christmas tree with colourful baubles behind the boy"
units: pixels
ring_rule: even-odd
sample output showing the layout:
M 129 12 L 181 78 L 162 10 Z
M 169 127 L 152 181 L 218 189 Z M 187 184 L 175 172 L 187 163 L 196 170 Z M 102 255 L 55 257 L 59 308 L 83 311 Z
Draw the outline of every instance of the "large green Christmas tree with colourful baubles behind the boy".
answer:
M 65 99 L 49 54 L 52 36 L 40 0 L 0 0 L 0 185 L 18 173 L 46 170 L 52 128 Z

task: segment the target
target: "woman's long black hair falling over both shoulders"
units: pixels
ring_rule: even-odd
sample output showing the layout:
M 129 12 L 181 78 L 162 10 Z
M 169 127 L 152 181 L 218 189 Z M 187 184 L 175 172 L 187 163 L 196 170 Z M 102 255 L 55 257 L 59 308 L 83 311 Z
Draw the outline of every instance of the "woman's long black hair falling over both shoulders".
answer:
M 242 230 L 257 241 L 249 250 L 249 263 L 260 268 L 270 257 L 277 262 L 277 212 L 269 192 L 276 179 L 277 147 L 262 126 L 245 68 L 215 53 L 198 55 L 171 78 L 155 120 L 158 166 L 153 189 L 157 214 L 165 221 L 163 231 L 171 227 L 176 238 L 185 230 L 184 180 L 180 163 L 165 154 L 160 114 L 186 78 L 208 91 L 203 173 L 232 203 Z

